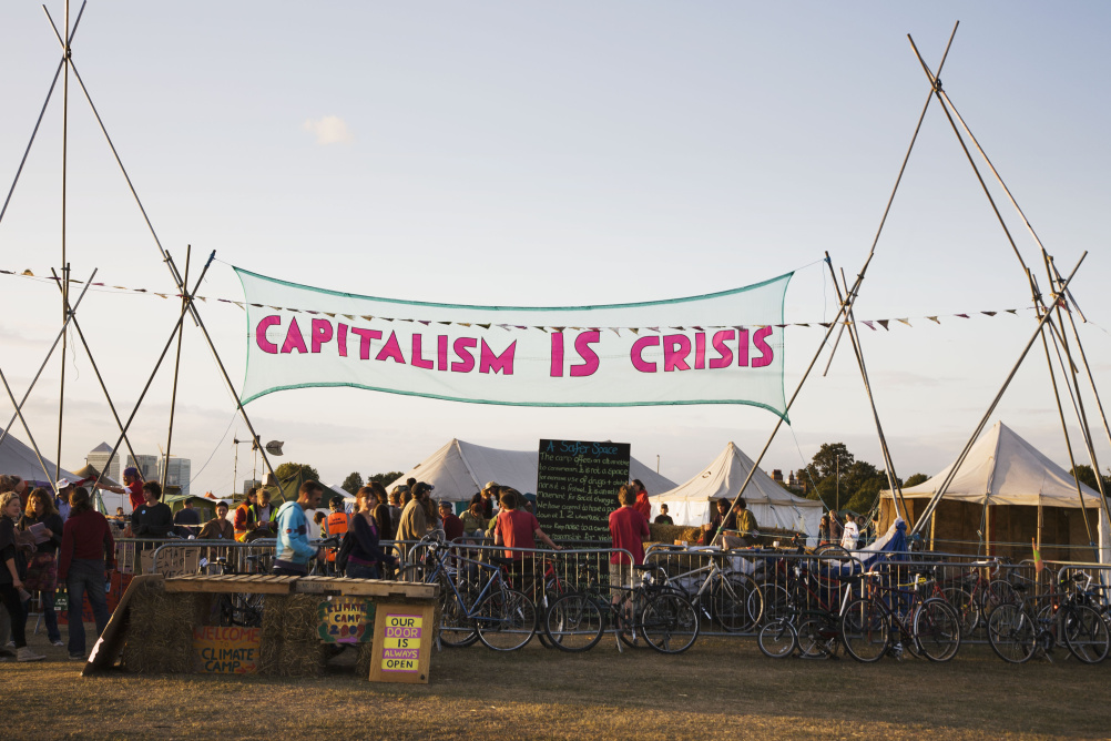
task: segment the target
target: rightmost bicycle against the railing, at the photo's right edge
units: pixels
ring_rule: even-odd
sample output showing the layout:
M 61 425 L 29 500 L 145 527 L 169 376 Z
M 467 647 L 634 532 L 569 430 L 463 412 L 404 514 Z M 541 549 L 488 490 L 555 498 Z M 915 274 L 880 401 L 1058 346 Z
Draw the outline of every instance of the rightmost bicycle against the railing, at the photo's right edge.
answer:
M 1059 578 L 1055 584 L 1068 588 L 1083 578 Z M 1021 593 L 1028 588 L 1018 584 L 1015 589 Z M 1090 599 L 1087 590 L 1062 593 L 1051 583 L 1047 594 L 997 608 L 988 619 L 988 641 L 995 655 L 1009 663 L 1025 663 L 1039 649 L 1052 661 L 1050 654 L 1059 644 L 1084 663 L 1099 663 L 1111 649 L 1111 633 L 1103 615 L 1087 603 Z

